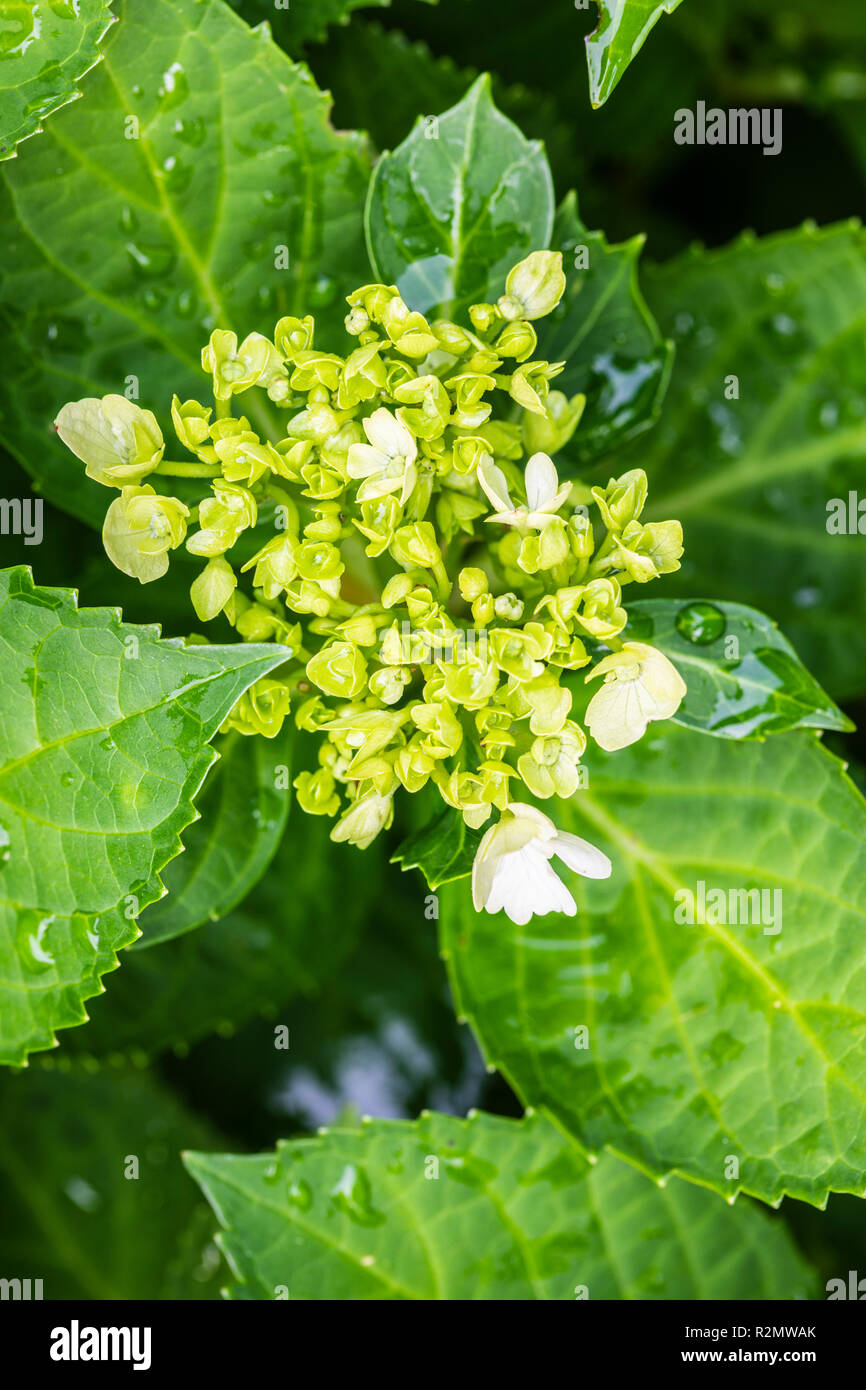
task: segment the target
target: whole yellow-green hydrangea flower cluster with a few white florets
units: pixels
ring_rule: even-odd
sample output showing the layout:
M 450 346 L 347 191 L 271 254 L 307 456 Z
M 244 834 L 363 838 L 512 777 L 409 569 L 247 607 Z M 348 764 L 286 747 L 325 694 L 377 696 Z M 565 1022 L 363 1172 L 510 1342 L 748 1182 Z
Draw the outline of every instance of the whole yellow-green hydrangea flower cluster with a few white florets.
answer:
M 348 299 L 345 357 L 316 346 L 309 317 L 240 343 L 217 329 L 202 353 L 213 406 L 171 406 L 186 460 L 167 460 L 154 416 L 122 396 L 64 406 L 56 423 L 120 492 L 103 531 L 118 569 L 149 582 L 185 545 L 204 562 L 199 619 L 285 646 L 228 726 L 274 737 L 293 713 L 317 735 L 318 766 L 295 787 L 306 812 L 338 817 L 338 841 L 366 848 L 400 787 L 435 785 L 473 828 L 496 809 L 475 874 L 488 906 L 527 855 L 555 877 L 556 828 L 518 794 L 580 784 L 573 673 L 602 682 L 585 724 L 605 749 L 685 692 L 660 652 L 620 635 L 623 588 L 678 569 L 680 524 L 641 521 L 641 470 L 588 489 L 550 457 L 585 404 L 552 389 L 564 363 L 534 357 L 534 321 L 564 284 L 562 257 L 535 252 L 495 304 L 470 309 L 471 327 L 366 285 Z M 200 480 L 197 503 L 154 486 L 172 477 Z M 580 869 L 587 853 L 563 858 Z

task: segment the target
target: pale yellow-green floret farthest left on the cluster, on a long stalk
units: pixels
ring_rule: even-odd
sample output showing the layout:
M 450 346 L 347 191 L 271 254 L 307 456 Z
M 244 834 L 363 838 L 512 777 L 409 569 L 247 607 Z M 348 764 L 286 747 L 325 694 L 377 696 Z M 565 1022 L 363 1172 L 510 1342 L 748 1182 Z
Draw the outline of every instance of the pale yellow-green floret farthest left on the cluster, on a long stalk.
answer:
M 158 464 L 165 445 L 156 416 L 125 396 L 88 396 L 64 406 L 57 434 L 85 473 L 107 488 L 135 486 Z

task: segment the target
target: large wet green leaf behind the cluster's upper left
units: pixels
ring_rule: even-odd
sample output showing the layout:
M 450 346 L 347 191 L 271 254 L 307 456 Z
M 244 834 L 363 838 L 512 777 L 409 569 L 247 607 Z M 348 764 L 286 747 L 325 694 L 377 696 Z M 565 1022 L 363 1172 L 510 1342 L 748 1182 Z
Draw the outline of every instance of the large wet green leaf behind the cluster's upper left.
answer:
M 168 438 L 172 392 L 207 389 L 211 328 L 270 334 L 313 313 L 328 346 L 341 296 L 370 274 L 367 143 L 334 131 L 306 68 L 221 0 L 118 13 L 86 101 L 7 165 L 0 196 L 0 438 L 100 527 L 103 489 L 49 431 L 64 402 L 138 386 Z M 275 410 L 252 417 L 279 438 Z

